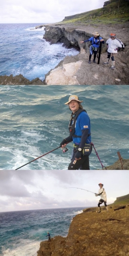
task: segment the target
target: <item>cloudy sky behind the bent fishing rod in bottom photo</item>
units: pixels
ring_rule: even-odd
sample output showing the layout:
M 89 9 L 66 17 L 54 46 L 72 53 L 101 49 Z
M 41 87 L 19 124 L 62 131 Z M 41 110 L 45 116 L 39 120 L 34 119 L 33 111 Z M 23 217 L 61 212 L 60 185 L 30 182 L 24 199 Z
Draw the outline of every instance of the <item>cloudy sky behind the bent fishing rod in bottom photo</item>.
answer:
M 129 194 L 129 170 L 0 170 L 0 212 L 97 206 L 100 182 L 107 204 Z

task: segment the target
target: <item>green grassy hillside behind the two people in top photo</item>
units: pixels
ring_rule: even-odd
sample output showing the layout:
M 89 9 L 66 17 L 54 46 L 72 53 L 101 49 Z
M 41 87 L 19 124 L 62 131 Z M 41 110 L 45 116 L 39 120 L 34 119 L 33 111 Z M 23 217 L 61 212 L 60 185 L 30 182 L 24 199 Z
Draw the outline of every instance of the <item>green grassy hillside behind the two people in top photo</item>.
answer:
M 108 4 L 100 9 L 67 16 L 62 22 L 64 24 L 69 22 L 114 24 L 129 21 L 129 0 L 110 0 L 107 2 Z

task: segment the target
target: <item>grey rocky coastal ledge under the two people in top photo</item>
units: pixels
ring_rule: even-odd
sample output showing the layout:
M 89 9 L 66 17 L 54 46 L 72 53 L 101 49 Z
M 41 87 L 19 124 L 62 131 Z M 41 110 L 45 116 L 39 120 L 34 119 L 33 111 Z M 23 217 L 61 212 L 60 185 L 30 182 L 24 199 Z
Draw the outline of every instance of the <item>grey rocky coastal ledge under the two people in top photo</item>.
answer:
M 41 25 L 39 25 L 41 26 Z M 0 84 L 43 84 L 43 85 L 114 85 L 129 84 L 129 22 L 119 24 L 117 37 L 125 45 L 125 50 L 120 50 L 115 56 L 116 69 L 112 70 L 103 62 L 107 59 L 106 44 L 102 46 L 100 64 L 88 63 L 89 44 L 81 44 L 80 41 L 91 37 L 93 31 L 101 31 L 100 34 L 106 41 L 111 31 L 116 31 L 116 25 L 96 24 L 86 25 L 84 23 L 55 23 L 43 25 L 46 27 L 44 39 L 51 44 L 63 43 L 66 47 L 80 49 L 76 56 L 66 56 L 58 65 L 51 69 L 44 81 L 35 78 L 32 81 L 22 75 L 12 77 L 0 76 Z

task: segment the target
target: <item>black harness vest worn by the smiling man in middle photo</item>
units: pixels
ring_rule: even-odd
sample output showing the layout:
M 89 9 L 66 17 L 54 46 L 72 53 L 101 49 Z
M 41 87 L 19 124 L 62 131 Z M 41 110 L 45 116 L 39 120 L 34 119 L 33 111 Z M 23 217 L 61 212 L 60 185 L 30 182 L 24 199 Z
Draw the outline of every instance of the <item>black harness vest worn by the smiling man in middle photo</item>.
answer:
M 76 123 L 76 120 L 77 120 L 77 117 L 79 116 L 79 114 L 81 112 L 83 112 L 86 110 L 85 109 L 78 109 L 76 113 L 72 113 L 71 114 L 71 118 L 70 118 L 70 122 L 69 122 L 69 125 L 68 125 L 68 129 L 69 129 L 69 132 L 70 132 L 70 136 L 72 137 L 76 137 L 76 138 L 81 138 L 82 136 L 77 136 L 74 134 L 75 132 L 75 123 Z M 88 134 L 88 137 L 90 136 L 91 134 Z

